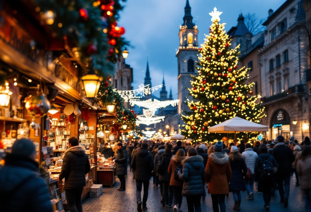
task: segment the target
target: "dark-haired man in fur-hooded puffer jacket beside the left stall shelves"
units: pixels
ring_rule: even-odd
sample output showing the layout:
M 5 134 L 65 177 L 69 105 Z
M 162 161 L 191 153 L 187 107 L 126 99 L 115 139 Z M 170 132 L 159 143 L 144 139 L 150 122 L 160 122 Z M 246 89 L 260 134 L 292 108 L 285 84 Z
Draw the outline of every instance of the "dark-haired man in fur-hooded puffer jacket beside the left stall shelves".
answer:
M 59 181 L 65 178 L 64 190 L 71 212 L 82 212 L 81 195 L 85 184 L 85 175 L 91 170 L 90 161 L 85 153 L 85 148 L 79 146 L 75 137 L 68 139 L 69 149 L 63 159 L 62 171 Z

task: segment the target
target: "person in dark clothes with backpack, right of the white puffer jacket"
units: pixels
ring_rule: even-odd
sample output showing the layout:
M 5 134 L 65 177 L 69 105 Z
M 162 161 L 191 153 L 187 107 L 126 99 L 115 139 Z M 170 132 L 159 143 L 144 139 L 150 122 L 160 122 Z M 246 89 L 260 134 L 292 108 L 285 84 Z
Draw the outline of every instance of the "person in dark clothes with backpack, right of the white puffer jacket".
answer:
M 276 159 L 267 153 L 265 146 L 260 148 L 260 155 L 256 158 L 254 173 L 255 181 L 260 182 L 258 192 L 262 192 L 263 206 L 266 210 L 270 210 L 271 190 L 274 185 L 274 173 L 278 169 Z

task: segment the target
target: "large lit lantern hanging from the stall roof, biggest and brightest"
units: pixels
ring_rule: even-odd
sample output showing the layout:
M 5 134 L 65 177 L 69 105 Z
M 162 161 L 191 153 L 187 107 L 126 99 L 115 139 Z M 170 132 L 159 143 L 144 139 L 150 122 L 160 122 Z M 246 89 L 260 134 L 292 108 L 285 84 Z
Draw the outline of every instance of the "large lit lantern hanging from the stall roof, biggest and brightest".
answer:
M 97 95 L 102 78 L 99 77 L 90 62 L 89 73 L 81 77 L 86 98 L 94 98 Z

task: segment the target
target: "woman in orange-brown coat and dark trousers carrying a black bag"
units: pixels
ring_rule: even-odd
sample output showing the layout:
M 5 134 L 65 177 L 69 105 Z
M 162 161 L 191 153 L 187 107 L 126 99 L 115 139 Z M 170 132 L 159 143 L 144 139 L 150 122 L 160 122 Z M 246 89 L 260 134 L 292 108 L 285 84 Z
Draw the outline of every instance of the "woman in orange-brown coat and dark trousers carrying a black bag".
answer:
M 183 167 L 181 162 L 186 158 L 185 155 L 185 151 L 183 149 L 179 149 L 176 154 L 172 156 L 171 161 L 169 162 L 168 172 L 171 175 L 169 185 L 173 187 L 174 192 L 174 212 L 182 211 L 181 202 L 183 200 L 183 181 L 175 179 L 175 170 L 177 166 Z

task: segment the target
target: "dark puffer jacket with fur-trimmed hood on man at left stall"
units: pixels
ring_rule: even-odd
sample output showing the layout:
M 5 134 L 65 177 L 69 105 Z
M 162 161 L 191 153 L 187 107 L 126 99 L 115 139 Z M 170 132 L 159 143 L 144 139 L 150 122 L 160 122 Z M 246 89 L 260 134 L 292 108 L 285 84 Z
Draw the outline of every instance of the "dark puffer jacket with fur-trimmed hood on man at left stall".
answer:
M 74 146 L 65 152 L 59 179 L 65 178 L 64 190 L 85 186 L 85 175 L 91 170 L 85 148 Z

